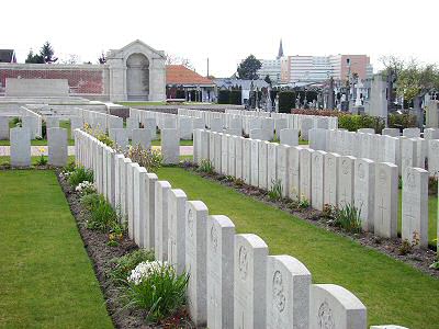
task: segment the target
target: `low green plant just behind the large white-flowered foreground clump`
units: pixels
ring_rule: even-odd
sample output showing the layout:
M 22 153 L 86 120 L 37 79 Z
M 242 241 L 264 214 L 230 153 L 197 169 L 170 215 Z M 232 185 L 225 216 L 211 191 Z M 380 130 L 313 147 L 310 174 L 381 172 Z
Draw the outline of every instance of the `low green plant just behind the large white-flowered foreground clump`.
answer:
M 139 263 L 154 261 L 154 252 L 144 249 L 137 249 L 122 257 L 114 258 L 110 261 L 110 277 L 119 283 L 126 281 Z

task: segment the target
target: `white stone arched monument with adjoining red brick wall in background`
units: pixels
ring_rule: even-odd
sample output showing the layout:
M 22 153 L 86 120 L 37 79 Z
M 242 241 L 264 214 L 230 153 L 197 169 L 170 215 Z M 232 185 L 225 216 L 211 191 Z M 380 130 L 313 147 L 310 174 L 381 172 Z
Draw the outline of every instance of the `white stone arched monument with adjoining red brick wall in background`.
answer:
M 165 52 L 139 39 L 106 54 L 105 64 L 0 63 L 0 95 L 79 97 L 97 101 L 164 101 Z

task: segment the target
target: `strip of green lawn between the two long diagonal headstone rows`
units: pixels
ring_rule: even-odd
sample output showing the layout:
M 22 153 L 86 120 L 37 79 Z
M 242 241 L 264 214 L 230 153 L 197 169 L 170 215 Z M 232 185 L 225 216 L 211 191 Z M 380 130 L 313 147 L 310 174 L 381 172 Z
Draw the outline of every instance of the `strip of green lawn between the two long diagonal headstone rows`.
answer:
M 210 214 L 229 216 L 237 232 L 259 235 L 270 254 L 296 257 L 315 283 L 351 291 L 368 307 L 370 325 L 439 328 L 439 280 L 183 169 L 161 168 L 158 177 L 190 200 L 202 200 Z

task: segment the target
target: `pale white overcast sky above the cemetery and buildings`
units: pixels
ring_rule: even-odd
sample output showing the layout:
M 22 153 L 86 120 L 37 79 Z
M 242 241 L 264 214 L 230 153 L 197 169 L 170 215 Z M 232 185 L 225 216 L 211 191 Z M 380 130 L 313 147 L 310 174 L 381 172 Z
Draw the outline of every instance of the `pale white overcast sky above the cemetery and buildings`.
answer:
M 188 58 L 195 70 L 229 77 L 250 54 L 365 54 L 374 69 L 395 55 L 439 63 L 438 0 L 58 0 L 2 1 L 0 48 L 24 63 L 49 41 L 55 55 L 97 63 L 100 54 L 142 39 Z

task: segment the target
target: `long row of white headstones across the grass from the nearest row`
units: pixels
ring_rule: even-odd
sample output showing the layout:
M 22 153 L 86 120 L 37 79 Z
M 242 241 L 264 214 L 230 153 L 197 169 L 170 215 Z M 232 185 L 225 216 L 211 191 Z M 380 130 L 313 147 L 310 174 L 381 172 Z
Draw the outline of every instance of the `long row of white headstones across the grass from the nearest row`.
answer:
M 384 238 L 397 236 L 398 172 L 389 162 L 340 156 L 307 147 L 198 129 L 194 161 L 209 160 L 214 170 L 270 190 L 275 183 L 282 194 L 307 201 L 315 209 L 325 205 L 361 211 L 362 229 Z M 403 178 L 402 237 L 419 237 L 428 245 L 428 172 L 408 167 Z

